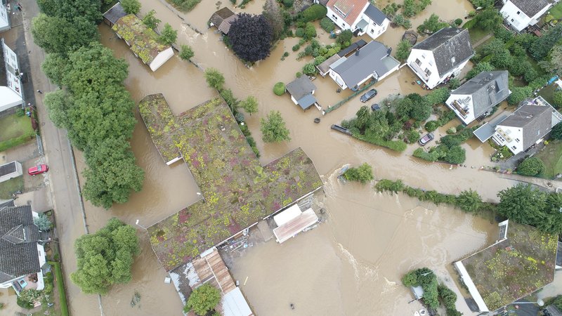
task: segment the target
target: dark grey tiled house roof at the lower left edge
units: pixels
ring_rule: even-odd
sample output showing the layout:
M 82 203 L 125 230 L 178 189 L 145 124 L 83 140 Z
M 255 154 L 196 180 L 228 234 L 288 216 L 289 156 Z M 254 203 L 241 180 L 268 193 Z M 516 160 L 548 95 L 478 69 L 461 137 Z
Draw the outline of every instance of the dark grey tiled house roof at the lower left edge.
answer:
M 31 206 L 0 206 L 0 282 L 41 270 L 38 239 Z

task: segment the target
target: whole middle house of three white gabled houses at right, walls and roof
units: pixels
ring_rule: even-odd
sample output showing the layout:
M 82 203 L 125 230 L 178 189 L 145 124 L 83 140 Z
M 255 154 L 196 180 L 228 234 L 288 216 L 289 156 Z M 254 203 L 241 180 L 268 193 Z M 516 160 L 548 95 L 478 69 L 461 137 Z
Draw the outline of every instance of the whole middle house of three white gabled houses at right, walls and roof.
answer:
M 466 81 L 445 101 L 464 123 L 470 124 L 509 96 L 507 70 L 481 72 Z

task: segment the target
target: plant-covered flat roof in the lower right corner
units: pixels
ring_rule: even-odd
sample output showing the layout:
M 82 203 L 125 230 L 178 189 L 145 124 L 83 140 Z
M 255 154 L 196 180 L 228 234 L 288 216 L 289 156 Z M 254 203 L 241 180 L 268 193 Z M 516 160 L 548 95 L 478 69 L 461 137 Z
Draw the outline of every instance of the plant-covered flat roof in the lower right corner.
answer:
M 462 260 L 489 310 L 554 281 L 558 237 L 509 221 L 507 239 Z

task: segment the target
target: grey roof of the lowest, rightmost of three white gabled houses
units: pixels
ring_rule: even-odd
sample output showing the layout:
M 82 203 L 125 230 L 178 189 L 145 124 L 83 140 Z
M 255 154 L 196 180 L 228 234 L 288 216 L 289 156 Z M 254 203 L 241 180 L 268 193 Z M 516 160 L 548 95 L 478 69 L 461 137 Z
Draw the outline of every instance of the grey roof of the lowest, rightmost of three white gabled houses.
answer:
M 500 125 L 523 129 L 523 149 L 527 149 L 551 130 L 552 107 L 543 105 L 523 105 L 513 112 Z

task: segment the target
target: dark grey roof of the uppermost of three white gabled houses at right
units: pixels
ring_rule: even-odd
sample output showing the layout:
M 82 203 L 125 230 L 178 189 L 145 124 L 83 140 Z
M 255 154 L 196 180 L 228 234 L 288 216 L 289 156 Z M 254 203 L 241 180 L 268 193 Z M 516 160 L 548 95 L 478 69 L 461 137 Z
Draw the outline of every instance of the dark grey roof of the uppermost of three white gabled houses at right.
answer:
M 474 55 L 469 30 L 456 27 L 440 29 L 413 48 L 433 52 L 440 77 Z

